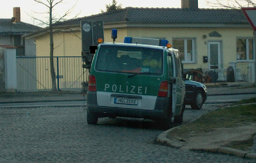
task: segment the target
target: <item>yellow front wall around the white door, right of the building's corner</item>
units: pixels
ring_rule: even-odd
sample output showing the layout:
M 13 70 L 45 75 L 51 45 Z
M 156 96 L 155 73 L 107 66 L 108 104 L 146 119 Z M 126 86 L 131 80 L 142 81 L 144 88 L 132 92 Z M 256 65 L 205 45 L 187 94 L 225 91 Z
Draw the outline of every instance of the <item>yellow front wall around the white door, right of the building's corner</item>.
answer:
M 209 37 L 209 33 L 217 31 L 221 37 Z M 203 39 L 203 35 L 207 38 Z M 127 29 L 128 37 L 164 38 L 172 44 L 173 39 L 194 38 L 196 48 L 196 63 L 184 63 L 184 68 L 208 68 L 208 63 L 203 63 L 203 56 L 208 56 L 208 41 L 222 42 L 223 68 L 229 66 L 228 62 L 236 61 L 237 37 L 253 37 L 251 28 L 147 28 L 133 27 Z M 209 60 L 208 60 L 209 62 Z

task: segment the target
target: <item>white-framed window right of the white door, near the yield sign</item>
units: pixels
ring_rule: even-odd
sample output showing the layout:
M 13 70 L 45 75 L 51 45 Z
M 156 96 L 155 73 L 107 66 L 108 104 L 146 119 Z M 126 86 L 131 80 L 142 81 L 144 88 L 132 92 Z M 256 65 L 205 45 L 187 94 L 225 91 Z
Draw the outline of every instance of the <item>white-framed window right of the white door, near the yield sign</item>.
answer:
M 237 38 L 237 60 L 253 60 L 252 38 Z

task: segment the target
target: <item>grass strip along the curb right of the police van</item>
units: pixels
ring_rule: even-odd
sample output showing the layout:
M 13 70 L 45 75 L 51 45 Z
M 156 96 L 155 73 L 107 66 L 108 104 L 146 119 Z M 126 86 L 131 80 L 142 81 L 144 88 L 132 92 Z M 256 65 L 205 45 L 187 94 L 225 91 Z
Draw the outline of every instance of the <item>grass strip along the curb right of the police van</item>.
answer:
M 196 121 L 182 125 L 168 134 L 170 136 L 192 136 L 197 133 L 213 131 L 216 128 L 235 127 L 256 122 L 256 105 L 241 105 L 217 109 L 204 114 Z

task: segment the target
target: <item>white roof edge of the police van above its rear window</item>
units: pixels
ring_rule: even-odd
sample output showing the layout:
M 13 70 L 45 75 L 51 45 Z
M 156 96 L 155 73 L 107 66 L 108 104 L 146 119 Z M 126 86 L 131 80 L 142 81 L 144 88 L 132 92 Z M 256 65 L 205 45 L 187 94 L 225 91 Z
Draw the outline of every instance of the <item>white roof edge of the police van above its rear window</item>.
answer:
M 100 44 L 99 44 L 100 45 Z M 178 51 L 177 49 L 173 49 L 173 48 L 168 48 L 166 46 L 156 46 L 156 45 L 146 45 L 146 44 L 130 44 L 130 43 L 113 43 L 113 42 L 103 42 L 101 43 L 101 45 L 113 45 L 113 46 L 136 46 L 136 47 L 149 47 L 149 48 L 154 48 L 154 49 L 166 49 L 168 51 Z

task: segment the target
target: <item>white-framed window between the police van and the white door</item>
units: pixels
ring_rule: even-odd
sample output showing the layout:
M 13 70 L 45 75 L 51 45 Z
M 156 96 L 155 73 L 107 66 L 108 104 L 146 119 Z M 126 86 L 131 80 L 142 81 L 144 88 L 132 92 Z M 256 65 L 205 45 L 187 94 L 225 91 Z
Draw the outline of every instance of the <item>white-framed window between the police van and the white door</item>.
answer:
M 183 63 L 195 63 L 195 39 L 173 39 L 173 48 L 179 50 Z

